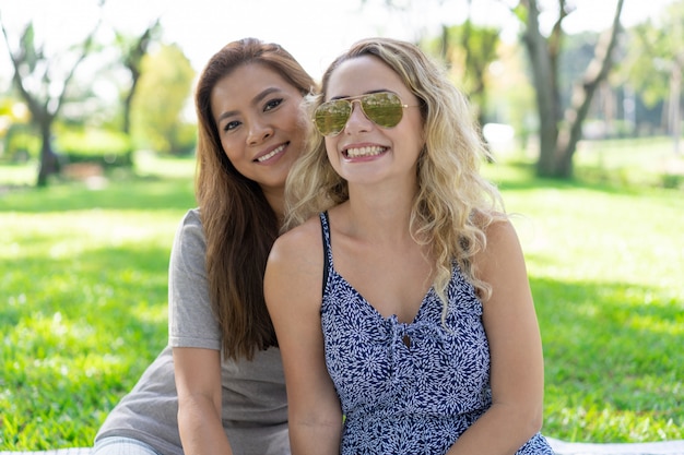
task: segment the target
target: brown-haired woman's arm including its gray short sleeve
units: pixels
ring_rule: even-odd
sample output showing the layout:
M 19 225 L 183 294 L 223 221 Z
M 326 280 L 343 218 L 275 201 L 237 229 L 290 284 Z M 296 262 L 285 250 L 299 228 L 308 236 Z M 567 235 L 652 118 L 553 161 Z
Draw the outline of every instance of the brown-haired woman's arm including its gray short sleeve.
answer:
M 205 254 L 199 212 L 190 211 L 176 232 L 168 275 L 178 429 L 187 455 L 225 455 L 232 452 L 221 420 L 221 330 L 210 304 Z

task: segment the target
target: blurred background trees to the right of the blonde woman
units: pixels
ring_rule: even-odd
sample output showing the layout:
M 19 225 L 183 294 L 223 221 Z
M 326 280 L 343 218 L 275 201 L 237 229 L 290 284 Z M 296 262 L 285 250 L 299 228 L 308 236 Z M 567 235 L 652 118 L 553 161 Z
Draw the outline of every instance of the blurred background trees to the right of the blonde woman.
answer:
M 411 1 L 378 1 L 411 13 Z M 564 23 L 577 10 L 574 1 L 490 1 L 518 20 L 515 43 L 503 40 L 500 28 L 476 24 L 474 3 L 465 1 L 460 25 L 447 16 L 441 36 L 418 41 L 451 68 L 485 139 L 491 123 L 512 125 L 523 146 L 535 149 L 538 175 L 554 178 L 573 176 L 581 139 L 670 134 L 680 154 L 684 2 L 673 1 L 659 17 L 625 28 L 624 1 L 617 0 L 604 5 L 612 13 L 605 31 L 569 35 Z M 552 19 L 551 25 L 542 17 Z

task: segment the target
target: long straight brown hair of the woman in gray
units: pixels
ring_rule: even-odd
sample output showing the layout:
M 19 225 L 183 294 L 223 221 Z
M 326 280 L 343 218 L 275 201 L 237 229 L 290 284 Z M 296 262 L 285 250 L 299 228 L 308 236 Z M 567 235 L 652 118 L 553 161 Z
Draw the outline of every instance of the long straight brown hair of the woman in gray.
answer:
M 216 83 L 247 63 L 272 69 L 303 95 L 316 85 L 285 49 L 255 38 L 222 48 L 198 82 L 196 194 L 207 238 L 211 306 L 221 325 L 223 355 L 233 359 L 251 359 L 256 350 L 278 346 L 263 299 L 263 273 L 279 220 L 259 184 L 239 173 L 227 158 L 211 110 Z

